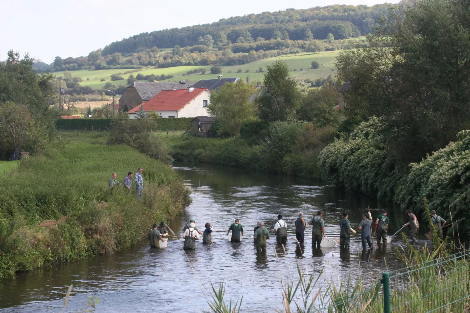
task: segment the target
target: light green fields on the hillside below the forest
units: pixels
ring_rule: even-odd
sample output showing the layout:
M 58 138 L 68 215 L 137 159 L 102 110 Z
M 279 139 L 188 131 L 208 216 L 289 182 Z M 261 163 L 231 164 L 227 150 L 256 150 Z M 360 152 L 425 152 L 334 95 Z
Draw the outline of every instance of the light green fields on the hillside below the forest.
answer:
M 290 75 L 295 76 L 299 79 L 317 79 L 317 78 L 326 78 L 329 74 L 333 72 L 333 63 L 340 53 L 341 50 L 337 51 L 323 51 L 318 53 L 302 53 L 298 55 L 288 55 L 288 56 L 281 56 L 281 57 L 274 57 L 259 60 L 253 63 L 247 63 L 243 65 L 234 65 L 234 66 L 222 66 L 222 74 L 224 77 L 240 77 L 243 80 L 246 79 L 246 76 L 251 77 L 251 81 L 262 80 L 263 73 L 256 72 L 259 67 L 262 67 L 264 70 L 266 69 L 267 64 L 273 63 L 277 59 L 281 59 L 287 62 L 289 68 L 291 70 Z M 311 63 L 313 60 L 318 61 L 320 63 L 320 68 L 313 70 L 310 69 Z M 189 70 L 204 68 L 207 70 L 207 73 L 204 75 L 196 74 L 196 75 L 185 75 Z M 127 78 L 129 75 L 136 76 L 139 73 L 143 75 L 155 74 L 155 75 L 173 75 L 174 77 L 171 79 L 167 79 L 165 81 L 179 81 L 180 79 L 185 79 L 187 81 L 196 82 L 200 79 L 211 79 L 216 78 L 216 74 L 209 73 L 209 69 L 211 65 L 208 66 L 176 66 L 176 67 L 168 67 L 163 69 L 155 69 L 152 67 L 143 68 L 138 72 L 133 72 L 130 74 L 122 74 L 122 77 L 125 80 L 118 80 L 118 81 L 111 81 L 110 76 L 112 74 L 117 73 L 124 73 L 126 70 L 118 69 L 118 70 L 75 70 L 72 71 L 73 77 L 81 77 L 84 81 L 80 83 L 81 86 L 90 86 L 92 88 L 103 88 L 103 86 L 110 82 L 115 86 L 125 86 L 127 85 Z M 303 71 L 300 71 L 300 68 Z M 237 73 L 236 71 L 241 69 L 241 73 Z M 245 70 L 250 70 L 250 72 L 246 73 Z M 297 70 L 297 71 L 294 71 Z M 231 71 L 231 73 L 229 73 Z M 64 72 L 54 72 L 55 76 L 64 76 Z M 90 80 L 86 80 L 86 78 L 90 78 Z M 100 81 L 101 78 L 105 78 L 106 81 Z

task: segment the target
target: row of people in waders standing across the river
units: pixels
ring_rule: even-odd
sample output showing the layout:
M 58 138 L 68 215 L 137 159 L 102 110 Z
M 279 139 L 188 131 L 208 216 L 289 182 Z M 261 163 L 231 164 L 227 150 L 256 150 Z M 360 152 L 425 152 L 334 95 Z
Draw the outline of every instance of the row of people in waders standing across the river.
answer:
M 377 243 L 381 241 L 387 243 L 387 232 L 389 218 L 387 216 L 387 210 L 383 210 L 382 214 L 378 215 L 375 222 L 375 234 Z M 415 214 L 410 210 L 408 211 L 409 222 L 403 227 L 410 226 L 410 237 L 413 240 L 413 243 L 417 244 L 416 236 L 418 234 L 418 220 L 416 219 Z M 325 235 L 325 222 L 323 220 L 323 212 L 318 211 L 316 216 L 311 218 L 308 222 L 305 222 L 304 213 L 300 212 L 298 214 L 298 219 L 295 221 L 295 235 L 298 243 L 304 243 L 305 238 L 305 228 L 308 225 L 312 226 L 312 246 L 320 248 L 321 241 Z M 347 211 L 343 212 L 343 219 L 339 222 L 340 227 L 340 240 L 339 245 L 341 248 L 349 248 L 349 243 L 351 240 L 351 232 L 356 234 L 356 231 L 352 229 L 351 223 L 349 221 L 349 213 Z M 287 243 L 287 223 L 282 219 L 282 215 L 277 216 L 277 222 L 274 224 L 274 235 L 276 235 L 276 242 L 278 244 Z M 431 211 L 431 221 L 436 226 L 439 235 L 442 236 L 442 227 L 446 224 L 446 220 L 442 219 L 436 214 L 436 211 Z M 361 242 L 362 249 L 366 250 L 367 246 L 372 248 L 372 215 L 370 211 L 364 213 L 362 220 L 360 221 L 358 227 L 361 230 Z M 442 224 L 443 223 L 443 224 Z M 212 231 L 213 228 L 210 223 L 205 224 L 204 233 L 201 232 L 196 227 L 195 219 L 190 219 L 189 223 L 183 227 L 183 239 L 184 239 L 184 250 L 193 250 L 196 249 L 196 240 L 200 239 L 199 235 L 203 235 L 203 243 L 213 243 L 212 241 Z M 258 221 L 257 226 L 254 228 L 254 243 L 256 245 L 256 250 L 258 252 L 266 251 L 267 240 L 270 238 L 269 231 L 264 227 L 264 222 Z M 243 226 L 240 224 L 238 219 L 235 219 L 235 223 L 230 225 L 227 231 L 227 236 L 232 232 L 230 242 L 239 243 L 243 236 Z M 163 241 L 162 237 L 167 236 L 168 232 L 165 227 L 165 223 L 161 222 L 160 226 L 157 227 L 157 224 L 153 224 L 152 229 L 149 232 L 149 240 L 151 248 L 160 248 L 159 241 Z

